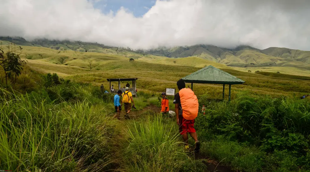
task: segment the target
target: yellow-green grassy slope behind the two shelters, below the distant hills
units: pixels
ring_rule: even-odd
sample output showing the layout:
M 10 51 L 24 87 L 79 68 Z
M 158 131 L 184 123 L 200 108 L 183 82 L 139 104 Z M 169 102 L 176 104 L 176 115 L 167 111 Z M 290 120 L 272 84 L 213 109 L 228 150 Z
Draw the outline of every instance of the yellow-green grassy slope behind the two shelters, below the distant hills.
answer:
M 257 94 L 300 95 L 310 92 L 308 80 L 297 80 L 278 76 L 266 76 L 254 73 L 255 71 L 277 72 L 286 71 L 286 74 L 310 76 L 309 70 L 297 70 L 293 67 L 277 68 L 240 68 L 229 67 L 221 63 L 209 61 L 199 57 L 167 58 L 147 54 L 137 54 L 126 50 L 108 53 L 65 52 L 45 47 L 22 46 L 22 58 L 26 58 L 28 66 L 41 73 L 57 73 L 58 75 L 77 82 L 104 84 L 108 88 L 107 78 L 137 77 L 138 90 L 162 92 L 165 88 L 176 88 L 176 81 L 205 66 L 218 67 L 238 78 L 246 81 L 243 85 L 232 86 L 232 97 L 238 92 L 247 90 Z M 4 51 L 6 51 L 4 47 Z M 42 57 L 39 56 L 42 54 Z M 134 58 L 134 62 L 129 62 Z M 175 61 L 175 63 L 174 63 Z M 90 70 L 90 62 L 91 70 Z M 252 70 L 252 72 L 248 72 Z M 290 73 L 292 72 L 292 73 Z M 284 73 L 284 72 L 283 72 Z M 285 73 L 284 73 L 285 74 Z M 112 83 L 117 85 L 117 83 Z M 122 83 L 122 86 L 126 83 Z M 208 94 L 212 98 L 221 98 L 222 85 L 194 84 L 197 94 Z M 228 96 L 228 90 L 225 92 Z

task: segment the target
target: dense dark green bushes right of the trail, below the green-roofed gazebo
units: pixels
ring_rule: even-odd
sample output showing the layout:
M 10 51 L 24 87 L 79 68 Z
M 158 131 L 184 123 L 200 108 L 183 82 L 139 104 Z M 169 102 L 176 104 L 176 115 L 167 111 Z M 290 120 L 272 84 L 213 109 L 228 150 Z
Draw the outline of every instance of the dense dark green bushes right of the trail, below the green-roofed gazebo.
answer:
M 211 157 L 243 171 L 310 170 L 309 100 L 241 94 L 230 103 L 199 101 L 206 115 L 196 126 Z

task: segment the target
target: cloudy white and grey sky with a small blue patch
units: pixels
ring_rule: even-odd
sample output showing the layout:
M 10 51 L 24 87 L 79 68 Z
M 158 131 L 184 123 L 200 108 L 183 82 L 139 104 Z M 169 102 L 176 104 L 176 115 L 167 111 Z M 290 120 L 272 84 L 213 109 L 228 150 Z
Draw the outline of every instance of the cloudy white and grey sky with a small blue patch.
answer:
M 310 0 L 0 0 L 0 35 L 310 50 Z

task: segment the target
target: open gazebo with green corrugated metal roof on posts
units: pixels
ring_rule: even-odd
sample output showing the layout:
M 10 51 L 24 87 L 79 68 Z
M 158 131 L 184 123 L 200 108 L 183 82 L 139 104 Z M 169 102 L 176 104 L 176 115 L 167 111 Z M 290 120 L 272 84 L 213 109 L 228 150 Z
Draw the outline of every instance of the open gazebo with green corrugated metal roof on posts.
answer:
M 188 76 L 183 77 L 181 80 L 184 80 L 186 83 L 191 83 L 191 89 L 193 90 L 193 83 L 201 84 L 223 84 L 223 99 L 225 93 L 225 84 L 229 85 L 229 97 L 231 93 L 231 85 L 243 84 L 244 81 L 240 80 L 236 76 L 230 75 L 227 72 L 224 72 L 216 67 L 208 66 L 197 72 L 194 72 Z

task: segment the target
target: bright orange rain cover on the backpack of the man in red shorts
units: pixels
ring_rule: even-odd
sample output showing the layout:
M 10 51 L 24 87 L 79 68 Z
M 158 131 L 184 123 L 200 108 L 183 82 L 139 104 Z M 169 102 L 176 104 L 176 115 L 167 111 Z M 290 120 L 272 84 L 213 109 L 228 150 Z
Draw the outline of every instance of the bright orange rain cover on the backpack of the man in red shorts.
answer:
M 183 110 L 183 118 L 193 120 L 198 115 L 198 99 L 190 88 L 183 88 L 179 91 L 180 101 Z

